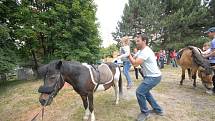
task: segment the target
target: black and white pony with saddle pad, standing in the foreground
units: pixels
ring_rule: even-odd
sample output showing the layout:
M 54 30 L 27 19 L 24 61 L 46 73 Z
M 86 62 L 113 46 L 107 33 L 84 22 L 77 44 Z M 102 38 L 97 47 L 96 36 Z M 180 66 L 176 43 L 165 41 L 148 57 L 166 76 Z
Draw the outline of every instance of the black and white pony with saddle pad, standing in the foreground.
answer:
M 120 67 L 114 63 L 104 63 L 97 68 L 70 61 L 53 61 L 40 67 L 40 74 L 44 77 L 44 85 L 38 89 L 41 93 L 41 105 L 50 105 L 65 82 L 73 86 L 81 96 L 85 108 L 84 120 L 95 121 L 93 94 L 95 91 L 107 90 L 114 87 L 116 104 L 122 94 L 122 78 Z

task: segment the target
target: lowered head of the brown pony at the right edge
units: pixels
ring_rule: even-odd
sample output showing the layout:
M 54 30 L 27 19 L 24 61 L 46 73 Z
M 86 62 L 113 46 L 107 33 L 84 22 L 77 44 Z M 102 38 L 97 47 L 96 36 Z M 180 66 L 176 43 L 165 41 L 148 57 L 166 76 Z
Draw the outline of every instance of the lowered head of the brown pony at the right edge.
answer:
M 202 67 L 199 67 L 198 69 L 198 76 L 202 81 L 202 84 L 207 88 L 208 90 L 211 90 L 213 88 L 213 71 L 211 70 L 206 70 Z

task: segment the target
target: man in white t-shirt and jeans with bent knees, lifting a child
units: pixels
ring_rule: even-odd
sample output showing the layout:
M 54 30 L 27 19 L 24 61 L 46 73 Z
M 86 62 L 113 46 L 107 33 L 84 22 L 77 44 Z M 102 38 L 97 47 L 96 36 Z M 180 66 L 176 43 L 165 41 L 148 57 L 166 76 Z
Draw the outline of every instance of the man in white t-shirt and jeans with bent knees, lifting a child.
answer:
M 149 113 L 163 115 L 162 108 L 150 93 L 150 90 L 160 83 L 161 71 L 157 66 L 154 52 L 147 46 L 148 38 L 139 34 L 137 36 L 136 45 L 139 50 L 137 56 L 136 58 L 133 58 L 129 55 L 129 60 L 134 66 L 141 65 L 144 74 L 144 81 L 136 90 L 136 96 L 141 111 L 137 117 L 137 121 L 144 121 L 149 116 Z M 146 100 L 149 102 L 153 110 L 150 111 L 148 109 Z

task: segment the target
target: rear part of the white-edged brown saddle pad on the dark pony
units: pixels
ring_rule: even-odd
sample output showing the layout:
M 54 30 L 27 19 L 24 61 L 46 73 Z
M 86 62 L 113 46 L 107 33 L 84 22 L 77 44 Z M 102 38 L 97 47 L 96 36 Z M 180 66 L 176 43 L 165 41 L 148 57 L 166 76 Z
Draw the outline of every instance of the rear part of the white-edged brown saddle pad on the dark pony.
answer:
M 96 80 L 97 83 L 107 84 L 113 80 L 113 73 L 107 64 L 99 65 L 98 70 L 100 73 L 100 81 Z

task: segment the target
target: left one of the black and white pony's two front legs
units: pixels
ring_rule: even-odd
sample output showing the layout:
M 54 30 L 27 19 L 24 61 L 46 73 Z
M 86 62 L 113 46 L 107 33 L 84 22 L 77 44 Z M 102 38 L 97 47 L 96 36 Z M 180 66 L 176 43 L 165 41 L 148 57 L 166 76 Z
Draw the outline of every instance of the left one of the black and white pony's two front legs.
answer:
M 90 116 L 90 110 L 89 110 L 89 99 L 87 96 L 81 96 L 81 99 L 83 101 L 84 104 L 84 108 L 85 108 L 85 115 L 83 117 L 83 120 L 88 120 L 89 116 Z

